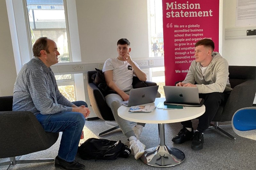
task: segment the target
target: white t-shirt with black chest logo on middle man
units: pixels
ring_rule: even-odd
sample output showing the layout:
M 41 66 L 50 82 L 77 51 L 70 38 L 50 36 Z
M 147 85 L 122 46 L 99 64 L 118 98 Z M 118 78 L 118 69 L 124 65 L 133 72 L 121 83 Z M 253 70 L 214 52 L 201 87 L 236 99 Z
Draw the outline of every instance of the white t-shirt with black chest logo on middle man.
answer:
M 139 67 L 137 63 L 133 63 Z M 134 70 L 127 61 L 120 61 L 118 58 L 109 58 L 104 63 L 102 72 L 108 70 L 113 70 L 113 82 L 119 89 L 123 91 L 132 89 Z

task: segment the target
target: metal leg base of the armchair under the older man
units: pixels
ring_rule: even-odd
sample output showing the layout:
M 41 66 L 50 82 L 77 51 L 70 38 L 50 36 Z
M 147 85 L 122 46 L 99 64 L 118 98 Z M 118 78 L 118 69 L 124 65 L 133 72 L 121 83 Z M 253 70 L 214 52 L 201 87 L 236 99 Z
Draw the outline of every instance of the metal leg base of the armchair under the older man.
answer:
M 16 160 L 16 157 L 10 157 L 10 161 L 0 163 L 0 166 L 9 165 L 6 170 L 9 169 L 11 165 L 16 164 L 29 164 L 29 163 L 42 163 L 42 162 L 54 162 L 54 159 L 22 159 Z

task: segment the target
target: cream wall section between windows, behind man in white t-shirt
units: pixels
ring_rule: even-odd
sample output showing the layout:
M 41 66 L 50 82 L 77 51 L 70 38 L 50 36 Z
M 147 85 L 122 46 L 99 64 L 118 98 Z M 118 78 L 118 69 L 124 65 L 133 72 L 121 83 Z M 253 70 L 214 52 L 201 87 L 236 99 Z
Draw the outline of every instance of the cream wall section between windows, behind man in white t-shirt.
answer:
M 76 0 L 76 10 L 82 61 L 117 57 L 121 38 L 131 42 L 132 58 L 149 56 L 147 0 Z

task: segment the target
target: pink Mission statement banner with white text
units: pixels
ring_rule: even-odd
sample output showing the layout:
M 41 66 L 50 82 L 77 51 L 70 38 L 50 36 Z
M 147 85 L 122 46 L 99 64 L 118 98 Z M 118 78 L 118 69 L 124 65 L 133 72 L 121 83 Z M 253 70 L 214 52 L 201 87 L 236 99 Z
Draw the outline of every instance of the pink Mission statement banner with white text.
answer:
M 162 0 L 165 85 L 183 80 L 195 43 L 212 39 L 219 51 L 219 0 Z

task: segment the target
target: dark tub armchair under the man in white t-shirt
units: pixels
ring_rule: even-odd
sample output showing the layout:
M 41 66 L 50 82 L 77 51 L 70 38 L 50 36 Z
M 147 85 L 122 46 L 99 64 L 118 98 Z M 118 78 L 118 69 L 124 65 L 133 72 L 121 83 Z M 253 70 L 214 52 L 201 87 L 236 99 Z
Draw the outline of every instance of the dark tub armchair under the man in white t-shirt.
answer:
M 112 111 L 108 107 L 105 101 L 105 97 L 103 96 L 102 92 L 97 87 L 97 85 L 93 83 L 92 75 L 95 73 L 97 73 L 97 71 L 87 72 L 87 90 L 88 90 L 92 109 L 94 113 L 97 115 L 97 117 L 99 117 L 100 119 L 106 120 L 106 121 L 115 121 Z M 142 82 L 137 77 L 135 76 L 133 77 L 133 82 L 132 82 L 133 88 L 140 88 L 140 87 L 154 86 L 154 85 L 156 85 L 156 83 L 150 82 L 150 81 Z M 134 123 L 134 122 L 131 122 L 131 123 Z M 110 123 L 110 124 L 113 124 L 113 123 Z M 119 126 L 115 126 L 111 129 L 108 129 L 104 132 L 99 133 L 99 136 L 118 128 Z

